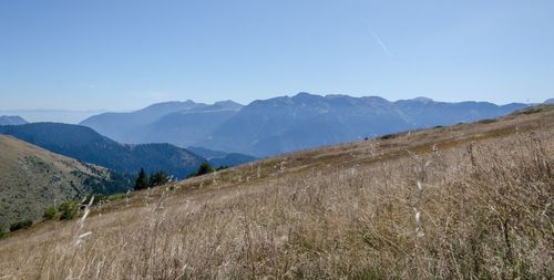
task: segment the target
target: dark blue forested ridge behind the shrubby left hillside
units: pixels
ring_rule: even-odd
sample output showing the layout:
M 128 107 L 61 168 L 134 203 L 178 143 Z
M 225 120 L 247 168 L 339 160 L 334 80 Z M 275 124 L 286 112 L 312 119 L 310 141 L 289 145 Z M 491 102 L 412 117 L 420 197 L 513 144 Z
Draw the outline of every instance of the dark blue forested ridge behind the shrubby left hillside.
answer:
M 0 134 L 12 135 L 54 153 L 125 174 L 165 170 L 184 178 L 195 172 L 204 158 L 170 144 L 120 144 L 80 125 L 33 123 L 0 126 Z

